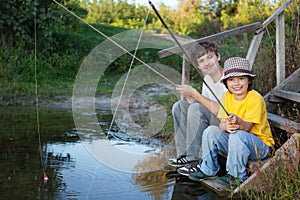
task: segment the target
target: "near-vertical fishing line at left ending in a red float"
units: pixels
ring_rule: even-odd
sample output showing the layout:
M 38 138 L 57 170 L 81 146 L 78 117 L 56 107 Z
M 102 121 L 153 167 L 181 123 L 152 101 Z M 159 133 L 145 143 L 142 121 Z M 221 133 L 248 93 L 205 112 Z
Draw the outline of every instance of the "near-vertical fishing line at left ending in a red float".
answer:
M 36 122 L 37 122 L 37 133 L 39 140 L 39 153 L 41 159 L 41 165 L 43 170 L 43 178 L 44 182 L 48 181 L 48 177 L 46 175 L 44 159 L 43 159 L 43 151 L 42 151 L 42 142 L 41 142 L 41 133 L 40 133 L 40 114 L 39 114 L 39 97 L 38 97 L 38 80 L 37 80 L 37 34 L 36 34 L 36 0 L 34 1 L 34 79 L 35 79 L 35 105 L 36 105 Z

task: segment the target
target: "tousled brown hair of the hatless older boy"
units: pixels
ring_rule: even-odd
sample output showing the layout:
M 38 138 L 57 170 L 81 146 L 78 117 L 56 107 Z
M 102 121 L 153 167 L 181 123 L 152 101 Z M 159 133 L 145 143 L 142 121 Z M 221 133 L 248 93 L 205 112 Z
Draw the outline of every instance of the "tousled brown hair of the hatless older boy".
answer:
M 219 47 L 213 42 L 199 42 L 192 49 L 192 60 L 197 63 L 197 59 L 207 53 L 213 52 L 217 56 L 220 54 Z

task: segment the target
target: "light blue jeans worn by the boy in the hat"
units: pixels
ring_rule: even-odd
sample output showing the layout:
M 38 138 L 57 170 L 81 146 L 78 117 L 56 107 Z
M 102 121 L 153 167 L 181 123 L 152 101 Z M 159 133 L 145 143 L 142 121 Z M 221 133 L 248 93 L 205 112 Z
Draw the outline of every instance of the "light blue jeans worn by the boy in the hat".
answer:
M 244 182 L 248 176 L 246 165 L 248 160 L 261 160 L 268 157 L 269 146 L 252 133 L 237 130 L 229 134 L 218 126 L 209 126 L 202 137 L 202 162 L 200 169 L 209 176 L 218 173 L 217 151 L 227 154 L 226 171 L 228 174 Z

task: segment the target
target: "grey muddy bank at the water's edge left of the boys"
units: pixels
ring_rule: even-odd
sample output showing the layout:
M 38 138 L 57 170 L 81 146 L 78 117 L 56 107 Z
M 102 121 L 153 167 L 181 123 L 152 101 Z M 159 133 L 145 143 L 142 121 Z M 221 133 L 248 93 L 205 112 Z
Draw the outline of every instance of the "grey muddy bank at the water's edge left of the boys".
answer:
M 145 87 L 130 96 L 122 96 L 121 99 L 120 96 L 112 98 L 110 95 L 99 95 L 95 98 L 57 98 L 41 106 L 82 113 L 109 113 L 115 118 L 118 127 L 116 131 L 149 138 L 163 128 L 167 113 L 170 113 L 170 108 L 157 101 L 158 97 L 166 95 L 174 93 L 163 87 Z

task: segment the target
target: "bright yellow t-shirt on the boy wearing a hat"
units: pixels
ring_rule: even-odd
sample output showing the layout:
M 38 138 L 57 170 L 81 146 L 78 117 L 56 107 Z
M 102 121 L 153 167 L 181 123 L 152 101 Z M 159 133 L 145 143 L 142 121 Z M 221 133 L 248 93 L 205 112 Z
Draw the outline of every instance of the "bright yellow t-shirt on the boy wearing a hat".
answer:
M 266 103 L 257 91 L 248 91 L 246 98 L 240 101 L 236 100 L 230 92 L 225 92 L 221 102 L 228 113 L 236 114 L 242 120 L 253 123 L 250 130 L 252 134 L 266 145 L 274 146 L 275 142 L 267 119 Z M 218 118 L 226 117 L 226 113 L 220 108 Z

